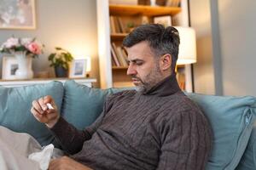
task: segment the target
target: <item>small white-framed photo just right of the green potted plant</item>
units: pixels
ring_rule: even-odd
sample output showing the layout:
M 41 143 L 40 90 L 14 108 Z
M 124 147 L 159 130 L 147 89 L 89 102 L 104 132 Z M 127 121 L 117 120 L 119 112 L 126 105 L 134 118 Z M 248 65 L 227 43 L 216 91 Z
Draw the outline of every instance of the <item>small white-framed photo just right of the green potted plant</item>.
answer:
M 70 78 L 76 77 L 85 77 L 86 66 L 88 65 L 88 59 L 73 59 L 69 67 L 69 76 Z

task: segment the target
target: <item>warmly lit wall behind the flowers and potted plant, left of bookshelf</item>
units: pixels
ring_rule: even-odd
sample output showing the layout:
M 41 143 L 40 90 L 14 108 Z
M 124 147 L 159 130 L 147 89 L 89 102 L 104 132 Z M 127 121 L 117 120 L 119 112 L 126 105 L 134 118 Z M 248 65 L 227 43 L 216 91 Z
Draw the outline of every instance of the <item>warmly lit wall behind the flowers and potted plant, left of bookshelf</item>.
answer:
M 49 71 L 47 56 L 55 46 L 67 48 L 74 55 L 90 55 L 91 77 L 99 80 L 95 0 L 37 0 L 36 30 L 0 30 L 0 44 L 7 38 L 37 37 L 45 45 L 44 54 L 33 59 L 33 71 Z M 0 54 L 2 70 L 2 57 Z M 1 72 L 1 71 L 0 71 Z

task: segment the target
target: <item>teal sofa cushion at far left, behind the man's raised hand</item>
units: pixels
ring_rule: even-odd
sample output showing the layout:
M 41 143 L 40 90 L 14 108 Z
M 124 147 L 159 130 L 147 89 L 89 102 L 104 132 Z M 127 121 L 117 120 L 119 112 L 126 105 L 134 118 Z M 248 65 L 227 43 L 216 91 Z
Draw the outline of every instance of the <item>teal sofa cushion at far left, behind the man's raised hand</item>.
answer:
M 43 123 L 38 122 L 30 111 L 32 101 L 45 95 L 51 95 L 58 108 L 61 108 L 62 83 L 49 82 L 19 88 L 0 86 L 0 125 L 15 132 L 29 133 L 41 145 L 55 144 L 49 129 Z

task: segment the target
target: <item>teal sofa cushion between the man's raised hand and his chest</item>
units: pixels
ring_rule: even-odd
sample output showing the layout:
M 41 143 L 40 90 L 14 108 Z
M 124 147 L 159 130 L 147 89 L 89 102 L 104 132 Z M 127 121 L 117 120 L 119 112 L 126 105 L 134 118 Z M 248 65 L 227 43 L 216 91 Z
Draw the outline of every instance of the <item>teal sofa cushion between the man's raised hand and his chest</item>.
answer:
M 89 126 L 102 113 L 103 103 L 111 90 L 89 88 L 73 80 L 64 83 L 62 116 L 79 129 Z

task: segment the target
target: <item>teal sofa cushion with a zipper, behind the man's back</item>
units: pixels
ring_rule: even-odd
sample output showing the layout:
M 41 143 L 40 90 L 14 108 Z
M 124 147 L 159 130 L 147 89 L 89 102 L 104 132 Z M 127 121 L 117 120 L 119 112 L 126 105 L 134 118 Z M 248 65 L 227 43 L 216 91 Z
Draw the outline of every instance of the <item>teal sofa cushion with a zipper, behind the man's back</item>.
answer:
M 241 160 L 255 121 L 256 99 L 188 94 L 212 125 L 212 155 L 207 170 L 233 170 Z

